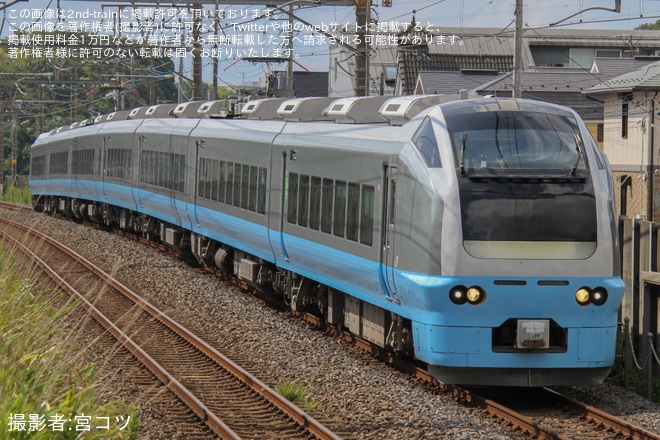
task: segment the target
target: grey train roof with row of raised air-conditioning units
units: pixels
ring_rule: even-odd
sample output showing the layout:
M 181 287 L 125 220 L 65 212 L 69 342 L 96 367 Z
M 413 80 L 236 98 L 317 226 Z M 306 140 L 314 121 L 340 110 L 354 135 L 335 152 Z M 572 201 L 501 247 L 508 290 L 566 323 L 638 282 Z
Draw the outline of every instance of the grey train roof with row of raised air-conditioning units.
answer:
M 170 122 L 167 124 L 182 127 L 198 125 L 201 119 L 238 119 L 284 123 L 287 125 L 285 131 L 289 133 L 325 132 L 326 128 L 318 124 L 305 124 L 306 122 L 317 122 L 322 125 L 327 124 L 330 127 L 334 126 L 334 129 L 330 127 L 328 129 L 333 131 L 335 136 L 341 136 L 340 133 L 344 132 L 347 133 L 347 136 L 355 136 L 358 133 L 362 133 L 364 136 L 372 136 L 376 132 L 372 132 L 369 127 L 384 129 L 385 127 L 405 126 L 413 118 L 417 116 L 421 117 L 422 115 L 420 114 L 437 105 L 442 106 L 442 111 L 445 115 L 494 110 L 542 111 L 567 116 L 573 114 L 566 107 L 541 101 L 513 98 L 483 98 L 479 96 L 467 96 L 467 93 L 394 97 L 264 98 L 251 100 L 246 103 L 240 103 L 237 100 L 231 99 L 205 102 L 192 101 L 180 104 L 138 107 L 133 110 L 113 112 L 94 119 L 86 119 L 41 134 L 37 138 L 35 145 L 48 142 L 47 138 L 60 133 L 63 133 L 67 137 L 71 135 L 76 136 L 78 134 L 77 131 L 80 131 L 81 135 L 89 134 L 100 129 L 101 124 L 105 125 L 124 121 L 124 123 L 117 124 L 116 128 L 119 131 L 133 131 L 138 125 L 151 125 L 147 122 L 150 119 L 163 118 L 175 118 L 178 120 L 176 123 L 173 124 Z M 297 124 L 299 122 L 301 124 Z M 356 127 L 358 125 L 362 127 Z M 265 128 L 263 125 L 260 126 Z M 243 128 L 240 127 L 240 129 Z M 402 139 L 407 137 L 408 130 L 400 130 L 399 135 L 393 135 L 390 131 L 392 128 L 380 130 L 378 133 L 382 132 L 384 134 L 384 132 L 388 132 L 389 139 L 399 136 Z M 239 129 L 238 126 L 237 129 Z M 411 127 L 411 129 L 414 128 Z M 64 134 L 72 130 L 76 130 L 76 133 Z

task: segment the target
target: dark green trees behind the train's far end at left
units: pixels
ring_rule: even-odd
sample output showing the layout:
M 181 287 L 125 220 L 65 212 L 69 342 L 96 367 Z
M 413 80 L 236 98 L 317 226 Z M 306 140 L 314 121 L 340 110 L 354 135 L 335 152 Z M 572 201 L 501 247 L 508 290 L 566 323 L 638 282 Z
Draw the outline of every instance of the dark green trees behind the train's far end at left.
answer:
M 22 41 L 44 43 L 33 47 Z M 7 44 L 0 48 L 0 144 L 5 175 L 11 170 L 14 142 L 18 174 L 28 174 L 30 145 L 44 131 L 118 108 L 176 102 L 171 59 L 111 51 L 114 56 L 80 56 L 81 49 L 91 50 L 85 46 L 91 41 L 90 35 L 72 32 L 15 34 L 3 41 Z M 71 49 L 71 55 L 58 55 L 58 50 Z

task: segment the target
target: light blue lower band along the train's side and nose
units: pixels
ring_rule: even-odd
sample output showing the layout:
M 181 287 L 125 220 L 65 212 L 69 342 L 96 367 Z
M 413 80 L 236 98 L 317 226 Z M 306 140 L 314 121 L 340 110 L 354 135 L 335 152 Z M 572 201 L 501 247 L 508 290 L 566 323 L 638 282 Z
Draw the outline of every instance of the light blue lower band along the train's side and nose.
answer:
M 74 188 L 85 198 L 143 211 L 410 320 L 415 356 L 427 362 L 443 382 L 594 383 L 602 381 L 614 363 L 617 313 L 624 292 L 618 277 L 507 277 L 510 282 L 503 284 L 494 277 L 426 275 L 388 268 L 396 286 L 396 292 L 389 292 L 378 261 L 282 234 L 265 226 L 265 221 L 258 224 L 152 192 L 138 194 L 129 186 L 100 184 L 90 182 L 83 190 L 85 185 L 77 182 Z M 81 197 L 72 193 L 74 188 L 65 180 L 34 181 L 31 186 L 45 196 Z M 453 303 L 449 291 L 458 285 L 482 287 L 485 300 L 478 305 Z M 607 302 L 579 305 L 575 292 L 583 286 L 606 289 Z M 389 301 L 390 295 L 396 301 Z M 515 333 L 507 326 L 520 320 L 552 323 L 555 342 L 548 349 L 509 343 L 502 334 Z

